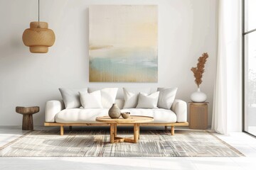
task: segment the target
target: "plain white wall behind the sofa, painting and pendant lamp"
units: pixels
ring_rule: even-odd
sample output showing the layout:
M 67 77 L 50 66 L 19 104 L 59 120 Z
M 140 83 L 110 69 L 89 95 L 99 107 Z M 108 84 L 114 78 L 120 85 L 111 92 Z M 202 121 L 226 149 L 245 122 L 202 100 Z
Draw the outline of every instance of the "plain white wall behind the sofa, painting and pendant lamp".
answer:
M 89 83 L 88 6 L 90 4 L 159 5 L 158 83 Z M 177 98 L 190 101 L 196 91 L 190 71 L 208 52 L 201 91 L 208 95 L 211 122 L 216 65 L 215 0 L 43 0 L 41 21 L 56 41 L 46 54 L 32 54 L 23 45 L 23 30 L 38 17 L 36 0 L 0 0 L 0 125 L 21 125 L 16 106 L 40 106 L 33 115 L 43 125 L 45 103 L 60 99 L 59 87 L 177 86 Z M 102 28 L 104 29 L 104 28 Z

